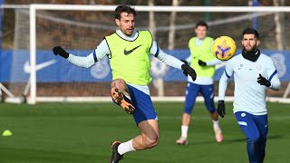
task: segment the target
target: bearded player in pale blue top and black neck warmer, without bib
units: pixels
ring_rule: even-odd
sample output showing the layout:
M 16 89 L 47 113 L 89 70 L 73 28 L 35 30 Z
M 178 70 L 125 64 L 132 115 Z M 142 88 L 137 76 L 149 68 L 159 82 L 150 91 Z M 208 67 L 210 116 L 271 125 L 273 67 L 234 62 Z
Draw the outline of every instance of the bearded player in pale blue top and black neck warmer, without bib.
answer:
M 244 30 L 244 49 L 240 55 L 227 61 L 218 87 L 218 114 L 223 118 L 226 115 L 227 79 L 234 73 L 234 113 L 237 124 L 247 137 L 250 163 L 262 163 L 265 158 L 268 132 L 266 88 L 281 89 L 274 62 L 257 49 L 259 43 L 259 34 L 255 29 Z

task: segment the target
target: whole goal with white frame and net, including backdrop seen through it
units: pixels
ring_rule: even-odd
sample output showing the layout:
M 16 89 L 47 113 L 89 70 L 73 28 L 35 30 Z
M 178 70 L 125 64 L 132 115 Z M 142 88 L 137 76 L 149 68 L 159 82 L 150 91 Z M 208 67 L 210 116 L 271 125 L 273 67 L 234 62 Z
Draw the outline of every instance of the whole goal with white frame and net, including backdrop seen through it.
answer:
M 7 101 L 111 101 L 111 68 L 108 58 L 84 69 L 52 52 L 61 45 L 69 53 L 86 56 L 115 32 L 115 5 L 29 5 L 14 9 L 13 48 L 5 50 L 1 61 L 9 66 L 0 78 L 13 96 Z M 241 49 L 241 33 L 257 28 L 260 49 L 275 61 L 282 81 L 281 91 L 268 91 L 270 100 L 289 101 L 290 32 L 285 27 L 290 9 L 286 7 L 193 7 L 134 6 L 138 14 L 136 29 L 148 30 L 165 52 L 179 59 L 189 56 L 188 43 L 198 21 L 209 25 L 208 35 L 228 35 Z M 174 13 L 174 14 L 172 14 Z M 218 79 L 225 63 L 217 65 Z M 156 58 L 151 58 L 150 93 L 153 100 L 183 101 L 187 78 Z M 6 74 L 7 73 L 7 74 Z M 229 82 L 227 96 L 233 96 Z M 232 100 L 232 98 L 229 98 Z

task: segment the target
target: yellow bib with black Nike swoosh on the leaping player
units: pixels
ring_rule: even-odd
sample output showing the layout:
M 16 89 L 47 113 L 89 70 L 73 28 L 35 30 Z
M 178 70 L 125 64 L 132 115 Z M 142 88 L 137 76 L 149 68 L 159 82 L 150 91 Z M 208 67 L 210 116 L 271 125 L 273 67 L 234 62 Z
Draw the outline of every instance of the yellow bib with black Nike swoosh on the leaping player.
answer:
M 134 41 L 127 41 L 114 33 L 106 36 L 111 57 L 112 79 L 121 78 L 127 83 L 148 85 L 150 77 L 150 47 L 152 35 L 139 31 Z

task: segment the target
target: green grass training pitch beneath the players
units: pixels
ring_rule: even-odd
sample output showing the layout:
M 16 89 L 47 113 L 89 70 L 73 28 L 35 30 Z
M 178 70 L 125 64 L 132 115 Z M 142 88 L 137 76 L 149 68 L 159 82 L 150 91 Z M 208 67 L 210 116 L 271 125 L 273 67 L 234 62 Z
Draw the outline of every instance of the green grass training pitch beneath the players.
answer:
M 131 152 L 124 163 L 247 163 L 246 139 L 237 126 L 232 103 L 220 120 L 225 140 L 215 142 L 212 122 L 203 103 L 197 103 L 189 129 L 189 145 L 175 144 L 180 135 L 181 102 L 155 102 L 160 119 L 160 144 Z M 268 103 L 269 133 L 266 163 L 290 162 L 290 106 Z M 113 103 L 0 103 L 1 163 L 108 162 L 111 141 L 139 134 L 131 115 Z

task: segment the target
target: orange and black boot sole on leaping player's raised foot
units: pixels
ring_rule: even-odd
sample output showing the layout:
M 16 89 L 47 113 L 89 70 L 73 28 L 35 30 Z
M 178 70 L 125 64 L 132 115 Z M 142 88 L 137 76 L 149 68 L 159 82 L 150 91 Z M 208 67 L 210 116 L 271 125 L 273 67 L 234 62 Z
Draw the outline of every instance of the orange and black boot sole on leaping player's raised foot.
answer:
M 116 87 L 111 88 L 111 98 L 112 100 L 121 106 L 121 108 L 128 112 L 128 114 L 132 114 L 135 110 L 131 101 L 125 97 L 125 95 Z

